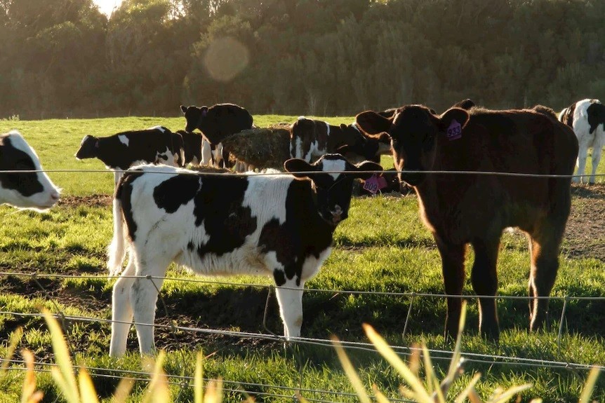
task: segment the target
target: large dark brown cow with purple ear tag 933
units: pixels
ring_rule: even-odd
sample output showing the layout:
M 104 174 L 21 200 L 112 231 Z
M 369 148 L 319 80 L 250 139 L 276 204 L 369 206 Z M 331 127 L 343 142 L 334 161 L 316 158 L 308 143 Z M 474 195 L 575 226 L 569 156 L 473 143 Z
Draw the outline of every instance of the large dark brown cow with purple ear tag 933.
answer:
M 571 175 L 578 156 L 573 131 L 531 109 L 451 108 L 437 115 L 423 105 L 356 117 L 368 135 L 387 132 L 399 179 L 415 189 L 420 216 L 441 255 L 447 296 L 446 334 L 458 329 L 465 254 L 474 249 L 471 282 L 479 296 L 479 330 L 498 339 L 496 261 L 504 228 L 528 235 L 530 329 L 545 322 L 559 267 L 559 246 L 571 206 Z M 423 173 L 423 171 L 433 171 Z M 447 175 L 434 171 L 561 175 Z M 483 297 L 485 296 L 485 297 Z

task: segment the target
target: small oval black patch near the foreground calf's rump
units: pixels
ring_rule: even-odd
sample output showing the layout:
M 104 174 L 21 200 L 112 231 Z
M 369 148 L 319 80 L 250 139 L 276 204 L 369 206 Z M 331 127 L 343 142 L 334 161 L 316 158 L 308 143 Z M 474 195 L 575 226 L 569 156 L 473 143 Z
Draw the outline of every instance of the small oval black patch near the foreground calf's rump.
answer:
M 199 190 L 200 178 L 195 175 L 176 175 L 161 182 L 153 192 L 157 207 L 168 213 L 189 203 Z

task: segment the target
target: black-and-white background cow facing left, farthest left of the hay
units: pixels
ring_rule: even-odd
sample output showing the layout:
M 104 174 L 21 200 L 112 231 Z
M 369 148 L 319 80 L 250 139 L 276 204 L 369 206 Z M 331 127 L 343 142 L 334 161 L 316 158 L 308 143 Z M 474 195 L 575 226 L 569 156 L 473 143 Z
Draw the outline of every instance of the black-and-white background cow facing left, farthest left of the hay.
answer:
M 117 183 L 122 171 L 140 163 L 185 165 L 182 136 L 164 126 L 145 130 L 119 132 L 108 137 L 86 135 L 82 139 L 76 158 L 98 158 L 105 167 L 114 171 Z

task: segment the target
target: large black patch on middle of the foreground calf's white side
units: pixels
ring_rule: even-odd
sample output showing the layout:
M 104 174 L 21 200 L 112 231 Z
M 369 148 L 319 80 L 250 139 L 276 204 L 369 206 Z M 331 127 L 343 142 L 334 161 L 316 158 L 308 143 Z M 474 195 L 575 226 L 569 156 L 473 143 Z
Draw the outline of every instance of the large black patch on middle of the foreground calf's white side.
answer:
M 206 253 L 218 256 L 244 245 L 246 236 L 256 230 L 256 219 L 250 207 L 241 204 L 248 188 L 246 177 L 204 177 L 194 200 L 195 225 L 204 224 L 210 237 L 204 245 L 197 245 L 200 257 Z

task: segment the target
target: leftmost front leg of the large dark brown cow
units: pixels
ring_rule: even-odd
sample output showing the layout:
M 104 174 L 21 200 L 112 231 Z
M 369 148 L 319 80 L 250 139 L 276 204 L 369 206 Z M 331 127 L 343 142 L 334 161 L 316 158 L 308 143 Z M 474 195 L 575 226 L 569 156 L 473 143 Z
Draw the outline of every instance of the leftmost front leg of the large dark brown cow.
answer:
M 441 254 L 441 268 L 444 274 L 444 286 L 446 294 L 461 295 L 464 286 L 464 259 L 466 254 L 465 244 L 452 244 L 435 236 L 437 248 Z M 462 299 L 456 296 L 447 297 L 446 336 L 456 337 L 458 334 L 458 322 L 462 310 Z

